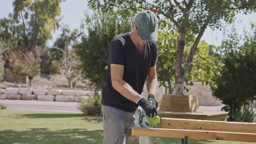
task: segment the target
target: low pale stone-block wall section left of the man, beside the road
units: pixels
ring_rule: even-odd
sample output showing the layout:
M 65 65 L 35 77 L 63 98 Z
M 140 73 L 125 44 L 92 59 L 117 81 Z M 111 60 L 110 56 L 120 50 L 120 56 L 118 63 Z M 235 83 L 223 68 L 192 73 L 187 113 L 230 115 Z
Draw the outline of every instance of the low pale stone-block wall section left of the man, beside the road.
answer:
M 101 95 L 101 92 L 99 92 Z M 25 89 L 6 88 L 0 89 L 0 99 L 10 100 L 38 100 L 38 101 L 79 101 L 94 95 L 92 91 L 58 90 L 58 89 Z

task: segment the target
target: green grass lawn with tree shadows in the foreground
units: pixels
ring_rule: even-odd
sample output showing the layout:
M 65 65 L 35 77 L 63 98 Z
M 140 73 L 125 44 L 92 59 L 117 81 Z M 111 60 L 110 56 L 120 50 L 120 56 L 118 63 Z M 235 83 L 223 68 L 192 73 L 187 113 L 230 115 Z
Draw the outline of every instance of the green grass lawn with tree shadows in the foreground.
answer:
M 100 144 L 102 119 L 82 114 L 0 110 L 0 144 Z M 142 141 L 147 139 L 143 137 Z M 151 144 L 181 144 L 176 138 L 148 138 Z M 189 144 L 253 144 L 189 139 Z M 147 142 L 148 144 L 148 142 Z

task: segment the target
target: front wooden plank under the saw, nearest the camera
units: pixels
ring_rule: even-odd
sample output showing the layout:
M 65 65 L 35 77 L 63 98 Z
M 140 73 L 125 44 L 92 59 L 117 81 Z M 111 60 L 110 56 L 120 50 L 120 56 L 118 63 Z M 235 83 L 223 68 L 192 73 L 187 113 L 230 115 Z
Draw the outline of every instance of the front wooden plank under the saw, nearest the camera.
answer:
M 131 135 L 174 138 L 184 138 L 187 136 L 191 139 L 256 142 L 256 134 L 253 133 L 196 131 L 167 128 L 132 128 Z

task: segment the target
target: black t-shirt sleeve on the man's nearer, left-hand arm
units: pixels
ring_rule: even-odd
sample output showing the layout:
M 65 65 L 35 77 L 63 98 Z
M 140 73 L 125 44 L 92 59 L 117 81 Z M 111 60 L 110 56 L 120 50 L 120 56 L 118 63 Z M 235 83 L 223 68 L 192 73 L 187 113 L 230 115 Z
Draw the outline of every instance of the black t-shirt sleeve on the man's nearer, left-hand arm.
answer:
M 108 64 L 125 65 L 124 46 L 118 40 L 110 43 Z

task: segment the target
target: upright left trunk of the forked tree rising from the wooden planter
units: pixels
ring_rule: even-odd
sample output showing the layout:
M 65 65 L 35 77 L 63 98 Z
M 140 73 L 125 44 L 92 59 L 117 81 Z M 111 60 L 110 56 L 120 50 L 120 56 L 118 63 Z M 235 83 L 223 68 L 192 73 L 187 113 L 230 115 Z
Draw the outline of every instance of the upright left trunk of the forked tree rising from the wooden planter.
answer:
M 182 60 L 184 56 L 184 46 L 186 39 L 185 29 L 179 30 L 178 46 L 175 63 L 175 85 L 173 94 L 184 95 L 184 69 L 182 68 Z

